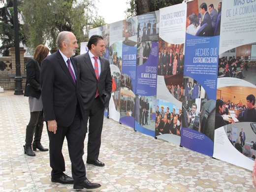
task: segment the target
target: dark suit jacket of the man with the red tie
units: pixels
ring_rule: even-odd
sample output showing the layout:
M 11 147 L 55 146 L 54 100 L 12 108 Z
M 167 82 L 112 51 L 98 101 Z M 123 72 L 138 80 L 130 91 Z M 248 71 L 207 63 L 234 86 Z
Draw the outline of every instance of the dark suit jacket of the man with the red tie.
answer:
M 108 108 L 112 91 L 110 64 L 109 61 L 103 57 L 99 57 L 99 59 L 101 72 L 97 80 L 89 53 L 87 52 L 75 57 L 75 60 L 77 61 L 78 74 L 80 76 L 84 109 L 87 109 L 92 105 L 97 90 L 101 103 L 105 108 Z

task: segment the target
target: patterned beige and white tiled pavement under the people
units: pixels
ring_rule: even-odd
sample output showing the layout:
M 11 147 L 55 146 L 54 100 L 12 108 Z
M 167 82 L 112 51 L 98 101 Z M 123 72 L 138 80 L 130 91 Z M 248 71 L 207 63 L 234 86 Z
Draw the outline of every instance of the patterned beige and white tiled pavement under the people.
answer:
M 0 192 L 73 191 L 72 185 L 51 182 L 49 152 L 24 155 L 28 97 L 10 95 L 0 94 Z M 45 128 L 42 144 L 49 144 Z M 63 154 L 65 173 L 71 176 L 66 140 Z M 107 118 L 99 160 L 104 167 L 86 164 L 88 179 L 102 186 L 88 190 L 91 192 L 256 192 L 252 171 L 154 139 Z

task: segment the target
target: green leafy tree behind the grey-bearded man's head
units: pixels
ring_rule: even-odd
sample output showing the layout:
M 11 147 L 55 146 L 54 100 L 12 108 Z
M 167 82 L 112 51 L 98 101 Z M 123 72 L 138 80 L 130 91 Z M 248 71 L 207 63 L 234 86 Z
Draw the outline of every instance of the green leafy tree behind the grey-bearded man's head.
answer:
M 33 51 L 39 44 L 57 49 L 59 32 L 69 31 L 77 43 L 84 42 L 84 29 L 92 19 L 95 0 L 24 0 L 22 6 L 27 46 Z M 79 52 L 79 50 L 77 50 Z

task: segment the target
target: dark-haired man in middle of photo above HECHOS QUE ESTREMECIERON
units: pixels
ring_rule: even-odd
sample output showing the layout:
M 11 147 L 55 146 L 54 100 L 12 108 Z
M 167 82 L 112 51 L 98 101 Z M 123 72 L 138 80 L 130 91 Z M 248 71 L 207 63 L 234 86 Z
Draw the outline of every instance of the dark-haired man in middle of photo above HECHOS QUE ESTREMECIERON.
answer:
M 207 12 L 207 5 L 205 2 L 200 5 L 200 13 L 202 19 L 200 26 L 202 27 L 205 23 L 208 24 L 208 26 L 202 32 L 202 36 L 213 36 L 212 20 L 210 14 Z

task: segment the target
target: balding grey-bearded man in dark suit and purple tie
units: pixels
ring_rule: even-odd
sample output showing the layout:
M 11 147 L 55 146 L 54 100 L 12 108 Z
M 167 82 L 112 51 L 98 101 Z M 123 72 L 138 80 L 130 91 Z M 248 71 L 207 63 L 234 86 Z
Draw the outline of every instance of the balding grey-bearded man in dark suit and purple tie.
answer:
M 100 185 L 88 181 L 82 159 L 81 134 L 85 113 L 77 64 L 72 58 L 78 48 L 76 37 L 72 32 L 60 32 L 57 45 L 59 50 L 43 60 L 40 73 L 44 120 L 50 140 L 52 182 L 74 183 L 74 189 L 96 189 Z M 73 178 L 64 174 L 62 146 L 65 137 Z

